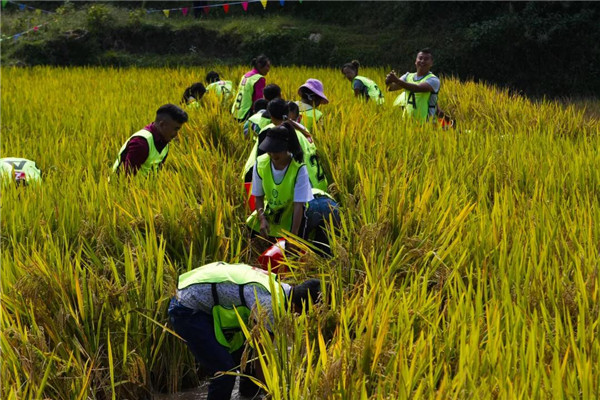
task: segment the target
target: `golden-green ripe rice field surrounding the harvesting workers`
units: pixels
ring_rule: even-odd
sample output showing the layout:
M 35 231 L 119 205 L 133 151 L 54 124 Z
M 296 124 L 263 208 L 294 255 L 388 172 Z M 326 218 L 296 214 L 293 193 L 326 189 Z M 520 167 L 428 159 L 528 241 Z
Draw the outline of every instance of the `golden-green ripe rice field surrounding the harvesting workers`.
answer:
M 229 107 L 190 111 L 152 180 L 111 179 L 124 141 L 210 68 L 2 68 L 3 399 L 151 398 L 203 379 L 166 308 L 179 274 L 249 262 Z M 218 67 L 237 84 L 247 70 Z M 380 87 L 387 71 L 361 69 Z M 314 132 L 342 209 L 333 257 L 290 258 L 329 305 L 249 330 L 272 399 L 600 396 L 600 122 L 442 77 L 458 128 L 354 99 L 339 70 L 273 66 L 286 99 L 318 78 Z

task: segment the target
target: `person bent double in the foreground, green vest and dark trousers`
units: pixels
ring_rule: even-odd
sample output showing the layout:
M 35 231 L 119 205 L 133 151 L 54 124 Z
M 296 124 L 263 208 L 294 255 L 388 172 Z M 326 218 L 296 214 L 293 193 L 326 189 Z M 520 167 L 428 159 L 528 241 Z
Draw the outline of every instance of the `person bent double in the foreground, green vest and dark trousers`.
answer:
M 258 313 L 253 311 L 260 306 L 266 314 L 258 317 L 267 318 L 256 322 L 266 324 L 267 330 L 273 332 L 275 313 L 284 313 L 288 304 L 292 312 L 306 311 L 320 300 L 320 294 L 318 279 L 291 286 L 279 282 L 275 274 L 250 265 L 215 262 L 179 277 L 169 317 L 175 332 L 213 376 L 240 365 L 245 338 L 238 315 L 246 325 L 256 318 Z M 211 379 L 207 399 L 229 399 L 234 384 L 235 376 L 231 375 Z M 241 395 L 252 396 L 257 391 L 249 379 L 240 378 Z

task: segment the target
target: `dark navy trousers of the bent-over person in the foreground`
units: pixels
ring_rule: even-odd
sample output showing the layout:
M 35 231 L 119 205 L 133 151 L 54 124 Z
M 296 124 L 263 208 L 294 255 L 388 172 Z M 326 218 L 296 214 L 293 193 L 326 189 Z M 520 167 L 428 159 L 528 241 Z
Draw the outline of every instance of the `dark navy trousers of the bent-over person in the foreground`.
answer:
M 212 315 L 191 310 L 172 298 L 169 319 L 175 332 L 185 339 L 196 361 L 211 377 L 218 371 L 234 371 L 239 366 L 243 348 L 229 353 L 227 348 L 217 342 Z M 235 376 L 211 378 L 207 400 L 231 398 L 234 385 Z M 252 390 L 256 393 L 258 387 L 247 378 L 240 379 L 240 392 Z

